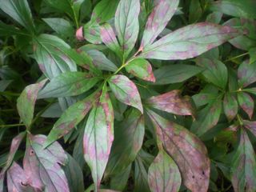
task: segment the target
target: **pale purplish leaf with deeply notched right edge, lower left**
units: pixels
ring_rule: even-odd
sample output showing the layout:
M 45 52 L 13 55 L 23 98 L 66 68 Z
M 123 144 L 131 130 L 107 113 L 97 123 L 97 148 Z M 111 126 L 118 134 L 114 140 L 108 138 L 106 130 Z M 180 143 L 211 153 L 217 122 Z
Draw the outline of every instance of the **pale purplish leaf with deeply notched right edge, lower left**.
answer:
M 23 167 L 28 178 L 28 184 L 38 191 L 69 192 L 69 186 L 62 165 L 67 156 L 62 146 L 54 142 L 46 149 L 44 135 L 29 135 Z

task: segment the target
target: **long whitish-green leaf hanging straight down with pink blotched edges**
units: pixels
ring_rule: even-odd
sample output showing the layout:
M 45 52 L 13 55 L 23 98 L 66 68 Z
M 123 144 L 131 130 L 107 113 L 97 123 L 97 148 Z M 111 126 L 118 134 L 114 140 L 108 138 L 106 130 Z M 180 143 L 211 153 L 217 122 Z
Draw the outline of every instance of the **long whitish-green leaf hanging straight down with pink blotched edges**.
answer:
M 102 93 L 90 111 L 83 137 L 84 158 L 99 189 L 114 140 L 114 111 L 109 94 Z

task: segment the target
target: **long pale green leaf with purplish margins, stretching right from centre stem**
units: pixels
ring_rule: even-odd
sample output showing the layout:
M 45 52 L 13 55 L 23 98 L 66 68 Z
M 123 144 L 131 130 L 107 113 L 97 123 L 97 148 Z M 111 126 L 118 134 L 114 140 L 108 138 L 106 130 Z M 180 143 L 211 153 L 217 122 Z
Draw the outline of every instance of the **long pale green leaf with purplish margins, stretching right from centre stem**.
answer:
M 147 46 L 140 57 L 162 60 L 194 58 L 239 33 L 229 26 L 200 22 L 184 26 Z

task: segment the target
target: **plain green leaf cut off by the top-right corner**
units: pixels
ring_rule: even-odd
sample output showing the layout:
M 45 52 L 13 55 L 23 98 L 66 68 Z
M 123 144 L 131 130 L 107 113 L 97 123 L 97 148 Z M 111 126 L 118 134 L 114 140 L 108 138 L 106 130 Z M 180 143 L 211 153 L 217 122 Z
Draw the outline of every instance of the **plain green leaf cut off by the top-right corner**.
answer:
M 254 0 L 222 0 L 212 2 L 210 10 L 218 10 L 238 18 L 256 18 L 254 7 L 256 7 Z

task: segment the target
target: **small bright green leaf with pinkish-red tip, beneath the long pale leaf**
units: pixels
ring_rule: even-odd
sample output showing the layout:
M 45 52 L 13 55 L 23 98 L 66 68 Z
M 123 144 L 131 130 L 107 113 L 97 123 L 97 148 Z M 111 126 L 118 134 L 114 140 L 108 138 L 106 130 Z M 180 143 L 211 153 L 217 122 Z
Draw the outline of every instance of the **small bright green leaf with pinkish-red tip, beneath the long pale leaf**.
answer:
M 152 66 L 150 65 L 150 62 L 146 61 L 144 58 L 135 58 L 128 62 L 126 71 L 143 80 L 155 82 Z

